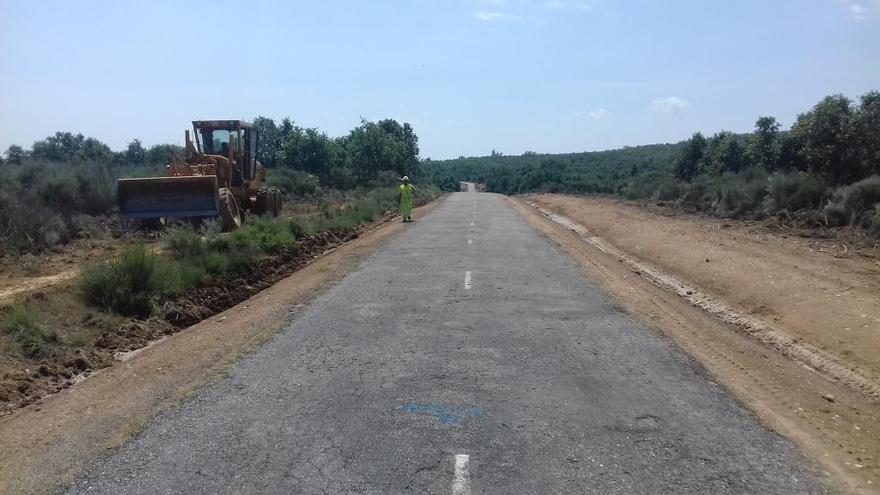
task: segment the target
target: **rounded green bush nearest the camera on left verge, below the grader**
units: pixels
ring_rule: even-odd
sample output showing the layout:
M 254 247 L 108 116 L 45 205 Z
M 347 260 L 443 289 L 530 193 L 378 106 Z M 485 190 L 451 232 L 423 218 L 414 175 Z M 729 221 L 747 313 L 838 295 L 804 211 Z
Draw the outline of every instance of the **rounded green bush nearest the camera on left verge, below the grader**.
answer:
M 192 283 L 191 272 L 149 253 L 143 244 L 124 248 L 109 261 L 87 268 L 79 290 L 89 303 L 126 316 L 147 317 L 162 297 Z

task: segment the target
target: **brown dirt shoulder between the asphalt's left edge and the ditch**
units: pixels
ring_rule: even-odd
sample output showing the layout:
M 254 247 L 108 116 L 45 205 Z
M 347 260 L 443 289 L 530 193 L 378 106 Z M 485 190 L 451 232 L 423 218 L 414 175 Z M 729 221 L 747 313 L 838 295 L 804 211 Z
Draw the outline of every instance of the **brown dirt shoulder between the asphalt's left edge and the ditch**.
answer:
M 417 208 L 422 216 L 441 201 Z M 406 228 L 370 230 L 250 299 L 0 420 L 0 493 L 45 493 L 157 413 L 222 377 L 322 290 Z

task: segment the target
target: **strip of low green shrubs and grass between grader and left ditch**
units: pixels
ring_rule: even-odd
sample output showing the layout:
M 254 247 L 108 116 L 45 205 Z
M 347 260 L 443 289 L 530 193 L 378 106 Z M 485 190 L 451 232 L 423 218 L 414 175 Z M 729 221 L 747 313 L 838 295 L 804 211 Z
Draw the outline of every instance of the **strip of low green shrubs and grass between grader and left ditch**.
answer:
M 427 186 L 416 200 L 439 194 Z M 321 232 L 344 234 L 376 221 L 394 210 L 397 193 L 391 188 L 357 190 L 331 208 L 290 218 L 252 218 L 230 234 L 209 223 L 196 231 L 179 227 L 163 237 L 164 254 L 151 253 L 142 243 L 122 249 L 115 257 L 84 270 L 78 282 L 83 299 L 103 311 L 145 318 L 155 308 L 212 277 L 254 268 L 259 259 L 295 248 L 297 241 Z

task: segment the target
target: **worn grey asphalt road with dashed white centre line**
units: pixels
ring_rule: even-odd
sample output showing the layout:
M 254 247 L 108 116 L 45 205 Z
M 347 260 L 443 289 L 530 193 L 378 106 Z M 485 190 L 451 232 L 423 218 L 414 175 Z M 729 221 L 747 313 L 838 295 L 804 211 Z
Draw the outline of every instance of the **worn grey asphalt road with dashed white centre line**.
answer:
M 456 193 L 69 493 L 824 493 L 496 195 Z

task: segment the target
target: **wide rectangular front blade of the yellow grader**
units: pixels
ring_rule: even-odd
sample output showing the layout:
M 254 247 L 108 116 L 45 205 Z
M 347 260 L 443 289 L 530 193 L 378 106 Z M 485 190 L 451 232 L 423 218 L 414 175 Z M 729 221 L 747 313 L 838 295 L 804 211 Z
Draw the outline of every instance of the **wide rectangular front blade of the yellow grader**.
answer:
M 217 176 L 119 179 L 119 214 L 128 218 L 211 217 L 220 212 Z

